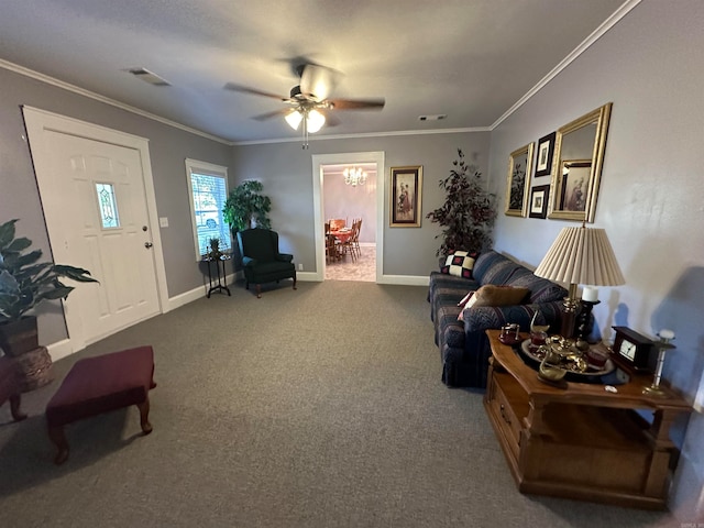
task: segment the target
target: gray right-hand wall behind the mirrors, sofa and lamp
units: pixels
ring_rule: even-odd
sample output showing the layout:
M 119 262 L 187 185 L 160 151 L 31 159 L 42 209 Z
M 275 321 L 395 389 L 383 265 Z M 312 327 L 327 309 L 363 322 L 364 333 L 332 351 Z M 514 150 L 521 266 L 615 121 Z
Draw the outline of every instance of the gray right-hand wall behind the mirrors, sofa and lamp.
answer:
M 673 329 L 666 377 L 690 399 L 704 393 L 703 24 L 704 2 L 644 1 L 493 131 L 490 164 L 503 200 L 513 150 L 613 101 L 594 227 L 606 229 L 626 285 L 600 288 L 594 314 L 607 338 L 612 324 L 649 336 Z M 502 215 L 495 246 L 535 267 L 560 229 L 574 224 Z M 694 521 L 704 517 L 701 414 L 678 443 L 673 506 Z

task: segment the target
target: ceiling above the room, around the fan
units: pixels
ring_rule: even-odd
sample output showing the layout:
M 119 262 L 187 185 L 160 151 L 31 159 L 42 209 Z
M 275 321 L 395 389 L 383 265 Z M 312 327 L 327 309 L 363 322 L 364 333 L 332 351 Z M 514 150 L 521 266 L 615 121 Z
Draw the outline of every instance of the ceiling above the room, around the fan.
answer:
M 316 135 L 490 128 L 622 4 L 0 0 L 0 59 L 232 142 L 298 138 L 280 118 L 251 119 L 283 103 L 223 86 L 287 97 L 305 59 L 344 74 L 333 98 L 386 99 L 382 111 L 336 111 Z

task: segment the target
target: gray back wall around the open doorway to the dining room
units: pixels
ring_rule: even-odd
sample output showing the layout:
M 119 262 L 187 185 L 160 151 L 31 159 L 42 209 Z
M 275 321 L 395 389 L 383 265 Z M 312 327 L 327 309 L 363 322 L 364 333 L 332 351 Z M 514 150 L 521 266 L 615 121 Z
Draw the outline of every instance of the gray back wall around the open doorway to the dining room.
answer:
M 344 116 L 341 116 L 344 119 Z M 438 182 L 450 174 L 457 150 L 462 148 L 469 161 L 486 175 L 488 167 L 488 132 L 406 135 L 396 138 L 360 138 L 311 141 L 310 148 L 301 143 L 239 145 L 234 147 L 231 184 L 242 179 L 260 179 L 264 193 L 272 198 L 272 226 L 279 232 L 282 248 L 295 255 L 306 271 L 316 271 L 314 237 L 312 160 L 315 154 L 383 151 L 386 174 L 378 175 L 384 187 L 384 243 L 376 251 L 384 256 L 384 275 L 427 277 L 438 267 L 435 237 L 438 224 L 425 216 L 444 201 Z M 422 222 L 420 228 L 388 227 L 389 167 L 422 165 Z M 378 244 L 378 241 L 377 241 Z

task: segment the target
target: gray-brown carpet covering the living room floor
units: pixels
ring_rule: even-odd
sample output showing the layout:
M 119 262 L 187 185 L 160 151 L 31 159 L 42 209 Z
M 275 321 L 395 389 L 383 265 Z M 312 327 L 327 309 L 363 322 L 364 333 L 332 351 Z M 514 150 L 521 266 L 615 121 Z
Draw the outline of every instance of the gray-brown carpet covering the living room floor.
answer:
M 517 492 L 482 393 L 440 382 L 427 289 L 241 285 L 54 364 L 0 408 L 2 527 L 679 527 Z M 67 426 L 44 408 L 77 359 L 152 344 L 152 435 L 135 407 Z

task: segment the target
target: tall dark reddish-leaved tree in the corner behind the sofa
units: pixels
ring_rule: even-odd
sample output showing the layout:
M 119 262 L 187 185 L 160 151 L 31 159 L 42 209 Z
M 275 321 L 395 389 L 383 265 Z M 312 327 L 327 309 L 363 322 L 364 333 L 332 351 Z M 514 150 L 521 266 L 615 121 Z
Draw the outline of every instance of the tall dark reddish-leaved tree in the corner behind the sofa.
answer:
M 461 148 L 458 154 L 459 160 L 452 162 L 455 168 L 440 179 L 440 187 L 447 194 L 444 204 L 426 215 L 443 228 L 436 237 L 442 238 L 437 256 L 455 250 L 481 252 L 492 245 L 491 228 L 496 218 L 494 195 L 482 188 L 482 173 L 464 161 Z

